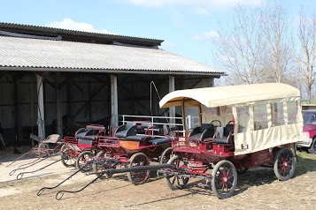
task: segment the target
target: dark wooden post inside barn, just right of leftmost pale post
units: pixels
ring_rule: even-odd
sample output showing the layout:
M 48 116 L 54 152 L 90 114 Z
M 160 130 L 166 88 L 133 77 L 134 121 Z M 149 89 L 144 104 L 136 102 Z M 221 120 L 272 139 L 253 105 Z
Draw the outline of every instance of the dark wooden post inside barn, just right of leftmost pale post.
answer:
M 56 86 L 55 86 L 55 91 L 56 91 L 56 124 L 57 124 L 57 134 L 61 138 L 63 138 L 63 117 L 61 113 L 61 96 L 60 96 L 60 91 L 58 89 L 58 84 L 60 81 L 60 72 L 56 72 Z

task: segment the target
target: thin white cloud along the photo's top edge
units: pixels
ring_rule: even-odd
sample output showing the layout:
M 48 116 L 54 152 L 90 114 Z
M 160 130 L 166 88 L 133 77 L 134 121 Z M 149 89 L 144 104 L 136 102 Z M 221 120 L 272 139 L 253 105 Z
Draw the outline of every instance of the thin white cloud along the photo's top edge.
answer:
M 197 11 L 197 8 L 204 8 L 204 11 L 211 8 L 231 8 L 235 5 L 260 5 L 261 0 L 120 0 L 120 2 L 128 2 L 129 4 L 135 4 L 144 7 L 163 7 L 163 6 L 179 6 L 186 5 L 192 6 Z

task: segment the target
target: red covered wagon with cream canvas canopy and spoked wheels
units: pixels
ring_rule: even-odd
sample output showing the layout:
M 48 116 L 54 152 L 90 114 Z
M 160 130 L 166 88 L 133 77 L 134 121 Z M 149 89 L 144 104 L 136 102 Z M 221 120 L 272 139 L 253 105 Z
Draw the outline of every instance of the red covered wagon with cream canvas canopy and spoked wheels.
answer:
M 293 176 L 303 126 L 296 88 L 274 83 L 180 90 L 159 104 L 180 106 L 183 118 L 196 109 L 201 124 L 173 141 L 175 156 L 168 163 L 175 168 L 159 170 L 171 189 L 200 177 L 225 199 L 235 191 L 237 172 L 250 167 L 269 164 L 279 180 Z

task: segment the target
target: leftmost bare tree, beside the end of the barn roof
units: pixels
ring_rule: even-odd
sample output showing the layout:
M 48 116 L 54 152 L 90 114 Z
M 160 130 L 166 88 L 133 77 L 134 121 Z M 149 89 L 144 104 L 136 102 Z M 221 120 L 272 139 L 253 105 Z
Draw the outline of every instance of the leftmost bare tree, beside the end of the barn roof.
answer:
M 213 39 L 217 49 L 215 60 L 228 71 L 230 85 L 258 83 L 263 75 L 260 66 L 262 35 L 258 31 L 257 10 L 235 8 L 233 30 L 220 26 L 219 36 Z

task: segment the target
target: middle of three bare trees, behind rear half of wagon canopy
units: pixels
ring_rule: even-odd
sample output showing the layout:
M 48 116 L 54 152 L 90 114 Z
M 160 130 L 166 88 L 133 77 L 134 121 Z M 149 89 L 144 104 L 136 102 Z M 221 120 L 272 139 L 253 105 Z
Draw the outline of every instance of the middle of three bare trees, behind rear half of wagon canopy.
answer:
M 268 1 L 260 8 L 260 28 L 266 44 L 262 65 L 266 81 L 286 82 L 287 72 L 292 69 L 292 45 L 289 34 L 290 21 L 287 8 L 281 1 Z

